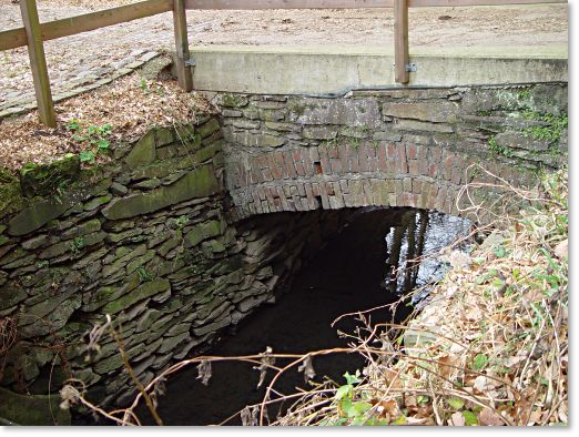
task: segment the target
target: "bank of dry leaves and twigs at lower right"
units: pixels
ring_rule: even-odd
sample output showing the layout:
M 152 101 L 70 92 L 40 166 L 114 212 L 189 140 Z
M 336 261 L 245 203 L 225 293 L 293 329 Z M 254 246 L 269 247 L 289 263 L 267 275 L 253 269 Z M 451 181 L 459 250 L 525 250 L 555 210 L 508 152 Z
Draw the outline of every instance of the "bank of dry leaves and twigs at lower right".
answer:
M 545 176 L 541 200 L 497 224 L 406 331 L 358 336 L 362 373 L 314 387 L 275 425 L 567 425 L 567 177 Z

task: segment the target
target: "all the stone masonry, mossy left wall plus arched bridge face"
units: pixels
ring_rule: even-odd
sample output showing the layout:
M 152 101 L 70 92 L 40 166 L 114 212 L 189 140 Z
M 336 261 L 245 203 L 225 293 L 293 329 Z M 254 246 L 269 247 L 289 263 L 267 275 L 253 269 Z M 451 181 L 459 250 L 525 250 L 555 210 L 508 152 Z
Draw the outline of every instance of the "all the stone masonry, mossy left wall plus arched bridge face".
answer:
M 148 383 L 275 301 L 356 207 L 456 215 L 489 181 L 471 164 L 527 186 L 567 162 L 565 83 L 213 101 L 219 118 L 152 126 L 106 163 L 0 171 L 0 398 L 74 377 L 126 403 L 114 339 L 87 349 L 105 314 Z

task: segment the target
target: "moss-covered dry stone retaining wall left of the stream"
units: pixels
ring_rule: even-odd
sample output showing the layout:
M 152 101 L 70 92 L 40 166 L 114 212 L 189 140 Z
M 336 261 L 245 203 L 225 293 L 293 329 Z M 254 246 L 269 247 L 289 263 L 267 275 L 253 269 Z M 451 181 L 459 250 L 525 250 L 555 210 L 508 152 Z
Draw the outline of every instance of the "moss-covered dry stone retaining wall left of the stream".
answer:
M 142 383 L 206 348 L 220 329 L 275 298 L 323 212 L 227 223 L 219 120 L 152 129 L 88 169 L 68 155 L 0 174 L 0 385 L 126 402 L 134 386 L 114 339 L 85 349 L 111 315 Z M 53 367 L 54 365 L 54 367 Z

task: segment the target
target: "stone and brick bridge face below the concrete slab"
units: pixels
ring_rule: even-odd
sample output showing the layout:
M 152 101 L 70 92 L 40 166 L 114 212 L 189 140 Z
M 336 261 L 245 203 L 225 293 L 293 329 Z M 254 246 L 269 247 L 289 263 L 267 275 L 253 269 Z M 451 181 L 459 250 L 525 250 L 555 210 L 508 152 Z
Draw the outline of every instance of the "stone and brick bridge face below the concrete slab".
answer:
M 460 187 L 488 180 L 473 164 L 526 186 L 567 161 L 563 83 L 213 100 L 237 217 L 367 205 L 456 215 Z

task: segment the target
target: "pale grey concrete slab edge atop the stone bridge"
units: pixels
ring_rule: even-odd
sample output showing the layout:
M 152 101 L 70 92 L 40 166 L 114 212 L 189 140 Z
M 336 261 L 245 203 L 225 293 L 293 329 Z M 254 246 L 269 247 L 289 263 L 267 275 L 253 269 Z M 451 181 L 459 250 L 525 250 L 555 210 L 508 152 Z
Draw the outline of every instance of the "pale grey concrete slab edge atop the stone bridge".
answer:
M 399 87 L 394 51 L 377 47 L 194 48 L 197 90 L 262 94 L 344 94 Z M 410 49 L 408 87 L 567 82 L 567 44 Z

